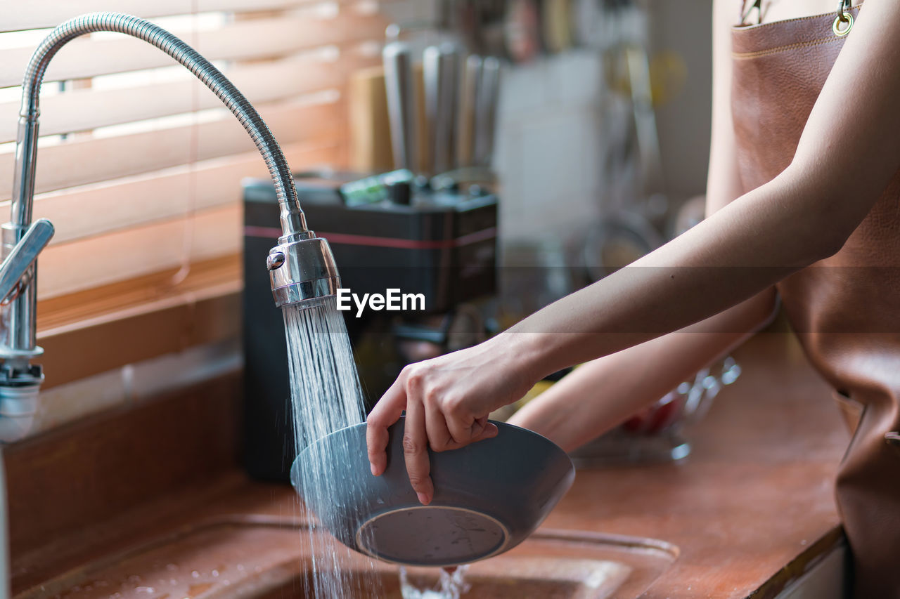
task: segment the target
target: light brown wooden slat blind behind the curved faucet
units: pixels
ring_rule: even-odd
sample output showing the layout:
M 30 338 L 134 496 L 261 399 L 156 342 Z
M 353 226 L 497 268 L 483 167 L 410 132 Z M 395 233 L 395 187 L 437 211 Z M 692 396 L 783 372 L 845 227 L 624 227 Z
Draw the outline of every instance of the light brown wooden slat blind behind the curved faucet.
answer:
M 234 81 L 289 164 L 304 170 L 346 163 L 345 86 L 380 62 L 387 24 L 374 8 L 371 0 L 0 0 L 0 219 L 9 214 L 16 90 L 40 39 L 23 31 L 100 10 L 158 19 Z M 201 13 L 216 18 L 195 27 L 189 17 Z M 73 40 L 50 63 L 34 213 L 57 234 L 40 256 L 39 335 L 73 326 L 68 315 L 103 320 L 78 308 L 102 286 L 181 301 L 170 277 L 152 275 L 240 252 L 240 181 L 266 176 L 266 166 L 238 121 L 180 68 L 139 40 L 105 33 Z M 60 91 L 54 82 L 75 85 Z M 220 280 L 203 268 L 212 288 L 233 293 L 239 284 L 230 266 Z M 148 285 L 158 289 L 141 291 Z

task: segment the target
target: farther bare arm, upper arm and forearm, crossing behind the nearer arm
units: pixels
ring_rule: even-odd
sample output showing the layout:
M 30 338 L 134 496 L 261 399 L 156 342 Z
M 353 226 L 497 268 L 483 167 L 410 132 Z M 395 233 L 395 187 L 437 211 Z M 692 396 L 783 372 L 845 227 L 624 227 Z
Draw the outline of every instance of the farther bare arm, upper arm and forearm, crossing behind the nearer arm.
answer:
M 731 113 L 731 38 L 735 3 L 720 0 L 713 13 L 713 118 L 707 178 L 707 215 L 741 195 Z M 710 362 L 734 349 L 770 320 L 769 289 L 714 317 L 621 352 L 567 375 L 510 418 L 566 451 L 621 424 Z

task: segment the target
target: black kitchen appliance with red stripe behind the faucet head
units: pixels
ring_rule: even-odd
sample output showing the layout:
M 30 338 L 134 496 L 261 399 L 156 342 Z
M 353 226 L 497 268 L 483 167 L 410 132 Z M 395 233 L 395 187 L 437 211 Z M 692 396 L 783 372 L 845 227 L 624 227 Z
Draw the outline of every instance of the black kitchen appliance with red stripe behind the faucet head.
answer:
M 457 308 L 496 291 L 497 198 L 477 186 L 435 192 L 397 171 L 358 176 L 295 175 L 306 219 L 325 237 L 341 287 L 362 296 L 398 289 L 423 294 L 425 309 L 344 313 L 370 401 L 409 361 L 403 339 L 440 344 Z M 255 478 L 288 482 L 295 457 L 281 310 L 261 265 L 277 237 L 272 183 L 244 183 L 245 464 Z M 351 302 L 352 303 L 352 302 Z

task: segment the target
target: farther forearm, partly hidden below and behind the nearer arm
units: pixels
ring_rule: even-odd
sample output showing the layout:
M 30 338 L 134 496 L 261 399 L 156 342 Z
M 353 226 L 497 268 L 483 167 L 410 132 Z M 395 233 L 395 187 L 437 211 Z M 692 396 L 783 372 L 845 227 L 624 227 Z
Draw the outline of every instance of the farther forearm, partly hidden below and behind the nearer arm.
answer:
M 572 451 L 743 343 L 769 321 L 774 305 L 775 291 L 763 291 L 696 325 L 584 364 L 509 422 Z

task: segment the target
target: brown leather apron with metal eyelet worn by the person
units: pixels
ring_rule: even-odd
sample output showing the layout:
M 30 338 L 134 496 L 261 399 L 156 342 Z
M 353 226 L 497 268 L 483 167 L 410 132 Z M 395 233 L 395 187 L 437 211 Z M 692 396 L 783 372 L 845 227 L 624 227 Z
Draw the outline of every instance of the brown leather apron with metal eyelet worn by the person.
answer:
M 732 111 L 744 192 L 793 158 L 846 39 L 835 19 L 734 28 Z M 852 90 L 847 97 L 848 110 L 866 109 L 852 103 Z M 900 448 L 891 434 L 900 430 L 900 171 L 841 251 L 779 283 L 779 293 L 809 360 L 864 407 L 837 479 L 853 596 L 900 598 Z

